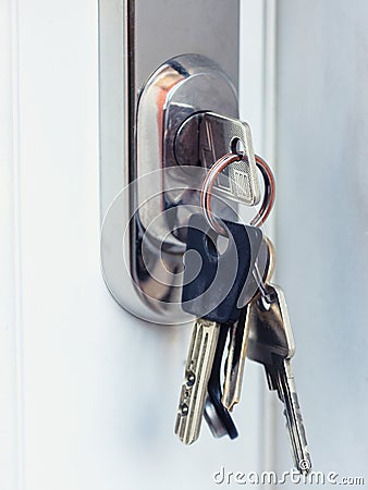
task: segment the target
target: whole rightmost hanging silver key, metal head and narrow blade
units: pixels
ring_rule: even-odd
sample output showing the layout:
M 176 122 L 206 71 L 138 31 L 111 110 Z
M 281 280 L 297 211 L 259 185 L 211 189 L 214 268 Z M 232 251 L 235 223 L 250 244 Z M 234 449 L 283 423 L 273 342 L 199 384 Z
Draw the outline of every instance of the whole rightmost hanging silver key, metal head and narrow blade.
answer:
M 307 474 L 311 462 L 291 366 L 295 344 L 287 306 L 281 287 L 267 284 L 267 290 L 273 297 L 271 303 L 258 294 L 249 304 L 247 357 L 265 366 L 269 388 L 278 391 L 284 404 L 295 466 Z

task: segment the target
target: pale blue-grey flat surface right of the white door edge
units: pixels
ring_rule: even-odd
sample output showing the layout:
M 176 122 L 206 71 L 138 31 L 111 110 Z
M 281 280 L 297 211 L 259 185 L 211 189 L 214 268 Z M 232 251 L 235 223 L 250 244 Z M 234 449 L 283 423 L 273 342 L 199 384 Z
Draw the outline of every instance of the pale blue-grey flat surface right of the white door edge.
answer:
M 315 469 L 366 481 L 367 19 L 364 0 L 279 3 L 278 271 L 296 382 Z

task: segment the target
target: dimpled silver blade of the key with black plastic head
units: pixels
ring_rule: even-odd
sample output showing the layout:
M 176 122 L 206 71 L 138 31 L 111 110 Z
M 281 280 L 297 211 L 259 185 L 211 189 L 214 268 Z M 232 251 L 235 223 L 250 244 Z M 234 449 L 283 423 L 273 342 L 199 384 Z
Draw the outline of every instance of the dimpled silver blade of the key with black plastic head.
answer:
M 205 319 L 197 319 L 193 327 L 175 422 L 175 433 L 184 444 L 199 437 L 219 331 L 220 323 Z

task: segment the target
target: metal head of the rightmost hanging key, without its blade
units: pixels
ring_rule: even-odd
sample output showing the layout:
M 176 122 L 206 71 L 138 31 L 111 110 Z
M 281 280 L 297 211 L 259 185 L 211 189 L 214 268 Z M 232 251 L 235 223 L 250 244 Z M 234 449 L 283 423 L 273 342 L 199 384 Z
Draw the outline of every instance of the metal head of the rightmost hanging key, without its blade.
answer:
M 291 358 L 295 352 L 293 332 L 282 289 L 267 285 L 273 302 L 266 304 L 257 294 L 248 307 L 249 339 L 247 357 L 263 365 L 272 365 L 274 356 Z

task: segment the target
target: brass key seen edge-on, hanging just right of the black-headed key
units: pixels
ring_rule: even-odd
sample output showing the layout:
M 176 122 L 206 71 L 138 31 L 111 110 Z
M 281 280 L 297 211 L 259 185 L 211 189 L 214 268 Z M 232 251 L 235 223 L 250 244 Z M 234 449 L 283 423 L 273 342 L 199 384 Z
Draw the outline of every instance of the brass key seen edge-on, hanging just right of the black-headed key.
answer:
M 246 321 L 249 302 L 255 293 L 258 292 L 259 286 L 262 287 L 262 284 L 271 279 L 273 270 L 274 248 L 270 240 L 267 238 L 267 236 L 263 236 L 253 272 L 254 279 L 253 281 L 249 281 L 250 287 L 248 286 L 248 291 L 245 294 L 245 306 L 241 311 L 238 321 L 233 323 L 231 327 L 229 354 L 225 363 L 223 395 L 221 400 L 223 406 L 230 412 L 232 412 L 235 404 L 241 401 L 246 350 L 249 335 L 249 322 Z M 259 281 L 258 277 L 262 277 L 263 280 Z

